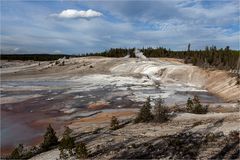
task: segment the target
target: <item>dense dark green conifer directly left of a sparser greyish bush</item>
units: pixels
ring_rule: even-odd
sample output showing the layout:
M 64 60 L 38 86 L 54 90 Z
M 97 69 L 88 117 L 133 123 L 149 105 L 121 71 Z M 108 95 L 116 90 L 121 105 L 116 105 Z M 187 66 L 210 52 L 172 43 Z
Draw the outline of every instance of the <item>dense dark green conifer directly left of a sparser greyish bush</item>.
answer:
M 150 122 L 151 120 L 153 120 L 153 115 L 151 113 L 150 97 L 148 97 L 147 101 L 140 109 L 140 112 L 135 119 L 135 123 Z

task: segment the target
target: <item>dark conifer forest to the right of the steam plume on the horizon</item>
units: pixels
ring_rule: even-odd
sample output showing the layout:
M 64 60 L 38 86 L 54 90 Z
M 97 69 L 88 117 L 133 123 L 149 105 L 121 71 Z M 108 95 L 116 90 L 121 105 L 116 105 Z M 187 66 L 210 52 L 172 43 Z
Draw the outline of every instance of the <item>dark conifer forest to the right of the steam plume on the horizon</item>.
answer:
M 206 47 L 205 50 L 171 51 L 166 48 L 143 48 L 146 57 L 168 57 L 183 59 L 185 63 L 192 63 L 200 67 L 214 67 L 225 70 L 237 70 L 240 63 L 240 51 L 217 49 L 216 46 Z

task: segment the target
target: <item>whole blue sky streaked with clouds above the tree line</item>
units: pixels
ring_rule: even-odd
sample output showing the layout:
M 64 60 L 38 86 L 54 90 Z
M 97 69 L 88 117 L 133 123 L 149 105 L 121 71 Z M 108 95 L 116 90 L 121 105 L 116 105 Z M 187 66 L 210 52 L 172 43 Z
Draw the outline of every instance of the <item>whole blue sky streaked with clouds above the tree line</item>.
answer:
M 2 53 L 239 47 L 240 1 L 1 0 Z

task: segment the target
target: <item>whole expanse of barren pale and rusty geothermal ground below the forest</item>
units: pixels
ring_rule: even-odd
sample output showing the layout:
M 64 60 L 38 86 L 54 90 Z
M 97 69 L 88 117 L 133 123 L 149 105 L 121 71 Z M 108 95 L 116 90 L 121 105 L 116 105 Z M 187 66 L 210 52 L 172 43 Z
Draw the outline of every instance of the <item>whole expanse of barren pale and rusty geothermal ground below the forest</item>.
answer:
M 239 152 L 239 143 L 229 134 L 239 131 L 240 89 L 226 71 L 204 70 L 177 59 L 143 57 L 1 61 L 1 66 L 3 154 L 18 143 L 38 144 L 48 123 L 58 135 L 68 125 L 97 159 L 231 158 Z M 209 105 L 209 113 L 176 109 L 184 108 L 187 98 L 194 95 Z M 172 110 L 169 122 L 131 123 L 148 96 L 164 99 Z M 116 131 L 109 130 L 113 115 L 123 126 Z M 19 136 L 23 133 L 29 136 Z M 218 138 L 209 141 L 209 134 Z M 186 148 L 176 148 L 174 143 Z M 199 145 L 182 155 L 191 148 L 187 144 Z M 225 153 L 227 145 L 230 149 Z M 54 149 L 32 159 L 58 157 Z

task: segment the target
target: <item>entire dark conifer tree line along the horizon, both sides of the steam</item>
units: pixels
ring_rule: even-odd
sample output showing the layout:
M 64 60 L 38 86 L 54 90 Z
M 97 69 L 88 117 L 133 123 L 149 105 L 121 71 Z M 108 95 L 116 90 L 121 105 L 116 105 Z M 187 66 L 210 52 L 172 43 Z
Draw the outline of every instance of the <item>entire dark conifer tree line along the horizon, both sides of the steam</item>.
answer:
M 183 59 L 185 63 L 204 68 L 217 68 L 224 70 L 233 70 L 239 73 L 240 67 L 240 51 L 231 50 L 229 46 L 217 49 L 216 46 L 206 46 L 204 50 L 191 50 L 190 44 L 186 51 L 172 51 L 163 47 L 158 48 L 142 48 L 141 52 L 146 57 L 167 57 Z M 15 54 L 1 55 L 1 60 L 34 60 L 34 61 L 53 61 L 59 58 L 85 57 L 85 56 L 104 56 L 104 57 L 135 57 L 135 48 L 111 48 L 103 52 L 86 53 L 80 55 L 64 55 L 64 54 Z

